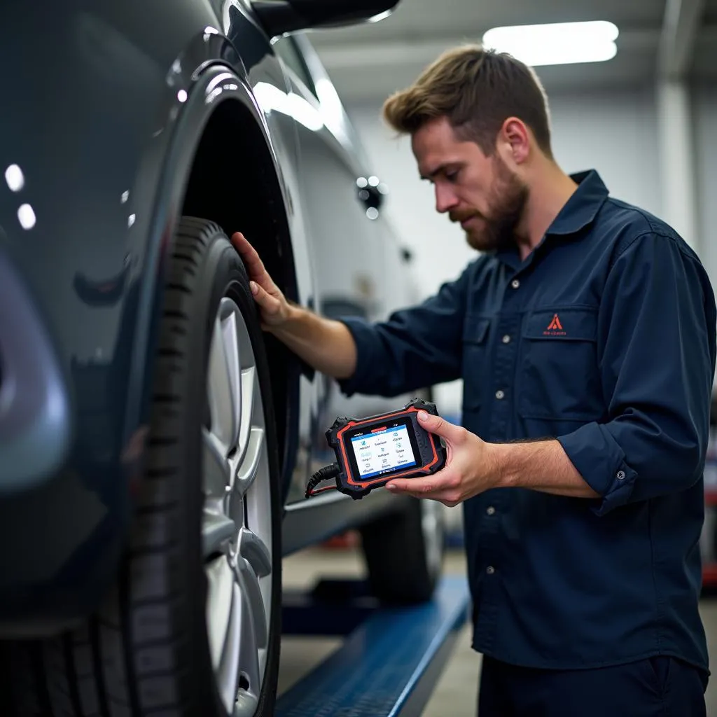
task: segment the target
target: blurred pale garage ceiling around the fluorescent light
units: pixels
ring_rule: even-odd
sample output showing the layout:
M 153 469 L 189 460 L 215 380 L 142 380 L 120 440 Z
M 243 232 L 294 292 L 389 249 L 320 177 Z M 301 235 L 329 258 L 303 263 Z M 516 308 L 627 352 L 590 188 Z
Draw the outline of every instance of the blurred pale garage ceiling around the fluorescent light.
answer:
M 617 24 L 617 56 L 537 67 L 548 92 L 650 85 L 665 39 L 674 47 L 663 57 L 678 62 L 673 56 L 686 50 L 688 77 L 717 82 L 717 0 L 402 0 L 377 24 L 313 32 L 310 39 L 343 99 L 358 103 L 408 85 L 444 49 L 479 42 L 490 27 L 578 20 Z

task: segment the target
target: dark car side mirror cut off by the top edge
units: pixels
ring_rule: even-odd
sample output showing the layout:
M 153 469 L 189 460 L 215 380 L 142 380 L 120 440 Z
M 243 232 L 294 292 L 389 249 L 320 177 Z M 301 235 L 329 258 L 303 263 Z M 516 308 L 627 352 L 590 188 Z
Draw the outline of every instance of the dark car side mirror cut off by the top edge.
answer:
M 399 0 L 254 0 L 252 8 L 269 37 L 320 27 L 376 22 Z

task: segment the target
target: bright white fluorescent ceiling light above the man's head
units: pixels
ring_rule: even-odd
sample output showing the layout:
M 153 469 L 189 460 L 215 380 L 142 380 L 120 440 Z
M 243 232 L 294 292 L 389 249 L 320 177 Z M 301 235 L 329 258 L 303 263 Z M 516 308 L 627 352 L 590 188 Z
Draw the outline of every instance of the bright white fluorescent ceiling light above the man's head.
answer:
M 617 54 L 618 34 L 604 20 L 494 27 L 483 35 L 483 47 L 508 52 L 532 67 L 604 62 Z

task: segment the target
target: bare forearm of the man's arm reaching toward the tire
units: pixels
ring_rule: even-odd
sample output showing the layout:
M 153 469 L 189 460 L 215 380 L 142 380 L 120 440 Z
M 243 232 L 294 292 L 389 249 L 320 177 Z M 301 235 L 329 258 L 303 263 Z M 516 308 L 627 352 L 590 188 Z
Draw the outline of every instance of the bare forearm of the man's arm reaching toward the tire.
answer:
M 356 371 L 356 342 L 341 321 L 292 306 L 287 320 L 267 329 L 309 366 L 327 376 L 348 379 Z

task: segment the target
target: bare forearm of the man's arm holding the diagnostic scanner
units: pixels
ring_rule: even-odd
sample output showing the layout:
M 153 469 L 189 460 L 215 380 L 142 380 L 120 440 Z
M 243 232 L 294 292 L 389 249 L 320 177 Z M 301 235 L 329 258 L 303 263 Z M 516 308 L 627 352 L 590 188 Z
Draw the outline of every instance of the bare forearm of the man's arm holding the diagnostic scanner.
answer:
M 489 445 L 501 488 L 530 488 L 573 498 L 600 497 L 577 472 L 556 440 Z

